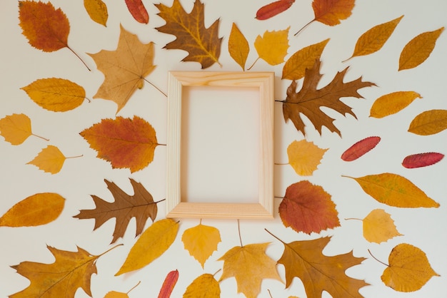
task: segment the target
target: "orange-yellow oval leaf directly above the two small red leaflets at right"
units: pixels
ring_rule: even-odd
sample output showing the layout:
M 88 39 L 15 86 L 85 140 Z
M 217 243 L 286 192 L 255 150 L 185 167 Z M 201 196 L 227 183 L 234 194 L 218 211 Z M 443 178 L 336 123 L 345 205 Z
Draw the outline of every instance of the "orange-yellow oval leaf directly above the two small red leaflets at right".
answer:
M 374 101 L 369 112 L 370 117 L 383 118 L 402 111 L 416 98 L 422 98 L 414 91 L 398 91 L 381 96 Z

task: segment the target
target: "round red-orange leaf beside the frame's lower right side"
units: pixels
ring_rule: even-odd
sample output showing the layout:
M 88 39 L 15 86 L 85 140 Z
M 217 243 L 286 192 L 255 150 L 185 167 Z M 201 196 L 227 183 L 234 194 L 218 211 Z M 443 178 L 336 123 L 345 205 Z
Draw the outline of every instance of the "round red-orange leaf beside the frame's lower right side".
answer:
M 331 195 L 306 180 L 287 187 L 279 205 L 279 216 L 285 227 L 306 234 L 340 226 Z

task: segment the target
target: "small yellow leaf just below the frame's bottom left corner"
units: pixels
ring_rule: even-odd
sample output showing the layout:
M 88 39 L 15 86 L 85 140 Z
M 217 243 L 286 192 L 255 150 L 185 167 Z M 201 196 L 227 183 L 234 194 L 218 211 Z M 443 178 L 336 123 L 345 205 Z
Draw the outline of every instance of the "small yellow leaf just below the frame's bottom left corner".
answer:
M 196 227 L 185 230 L 181 241 L 184 242 L 185 249 L 204 267 L 206 260 L 217 250 L 217 245 L 221 242 L 221 235 L 216 227 L 209 227 L 201 223 Z

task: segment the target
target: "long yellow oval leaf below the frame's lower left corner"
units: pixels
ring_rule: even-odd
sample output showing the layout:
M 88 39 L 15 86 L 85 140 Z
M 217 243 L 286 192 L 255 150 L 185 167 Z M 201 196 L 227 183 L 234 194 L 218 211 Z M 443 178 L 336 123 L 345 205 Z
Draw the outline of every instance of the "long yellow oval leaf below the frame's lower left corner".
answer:
M 141 269 L 168 250 L 176 239 L 179 225 L 174 220 L 159 220 L 148 227 L 136 240 L 129 255 L 115 276 Z

